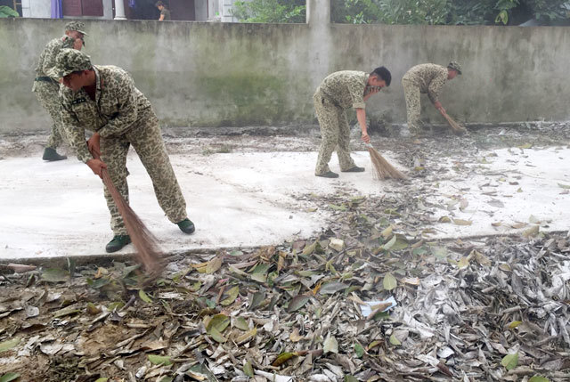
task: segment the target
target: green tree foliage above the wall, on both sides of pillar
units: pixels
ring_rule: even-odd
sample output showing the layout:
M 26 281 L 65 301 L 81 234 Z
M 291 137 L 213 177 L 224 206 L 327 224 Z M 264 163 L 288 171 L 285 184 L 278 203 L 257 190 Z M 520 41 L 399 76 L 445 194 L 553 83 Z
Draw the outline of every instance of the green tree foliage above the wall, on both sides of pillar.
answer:
M 570 0 L 322 0 L 331 19 L 352 24 L 507 25 L 535 18 L 549 24 L 570 18 Z M 305 0 L 239 1 L 242 22 L 305 22 Z

